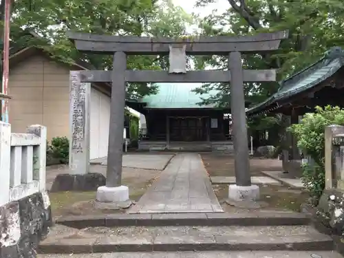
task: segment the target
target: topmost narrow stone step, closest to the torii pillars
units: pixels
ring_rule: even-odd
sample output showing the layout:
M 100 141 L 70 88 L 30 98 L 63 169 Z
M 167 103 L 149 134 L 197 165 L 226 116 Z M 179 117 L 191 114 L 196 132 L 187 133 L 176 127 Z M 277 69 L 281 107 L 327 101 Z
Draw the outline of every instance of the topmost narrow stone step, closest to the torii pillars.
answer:
M 310 224 L 304 213 L 164 213 L 68 216 L 55 220 L 72 228 L 96 226 L 296 226 Z

